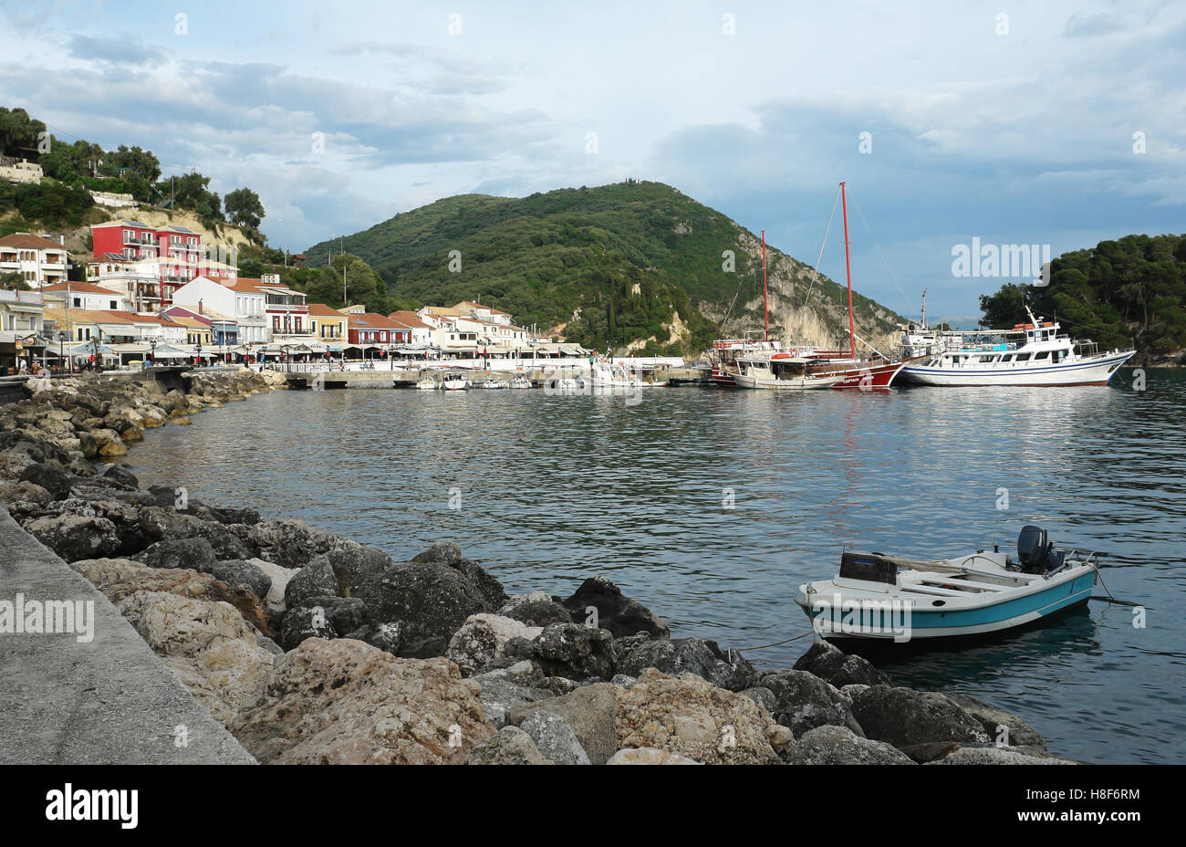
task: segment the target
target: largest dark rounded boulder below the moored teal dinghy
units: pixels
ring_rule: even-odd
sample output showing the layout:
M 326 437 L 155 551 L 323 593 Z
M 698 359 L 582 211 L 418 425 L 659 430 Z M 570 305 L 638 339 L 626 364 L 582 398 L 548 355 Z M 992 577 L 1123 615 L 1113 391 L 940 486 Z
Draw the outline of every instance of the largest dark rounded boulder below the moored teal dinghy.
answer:
M 983 725 L 943 694 L 873 686 L 853 701 L 867 738 L 904 747 L 927 741 L 987 744 Z

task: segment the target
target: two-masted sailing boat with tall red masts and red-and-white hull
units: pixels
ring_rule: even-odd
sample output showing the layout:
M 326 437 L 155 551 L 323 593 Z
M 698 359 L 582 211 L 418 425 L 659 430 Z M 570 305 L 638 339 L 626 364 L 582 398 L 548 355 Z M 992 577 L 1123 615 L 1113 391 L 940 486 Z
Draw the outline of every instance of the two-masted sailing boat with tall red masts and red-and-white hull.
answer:
M 741 388 L 856 388 L 869 390 L 888 388 L 894 377 L 910 362 L 922 356 L 891 359 L 880 352 L 874 356 L 856 354 L 856 320 L 853 316 L 853 268 L 848 250 L 848 196 L 844 183 L 840 184 L 840 197 L 844 219 L 844 275 L 848 281 L 848 338 L 849 349 L 820 350 L 796 348 L 795 350 L 753 350 L 735 357 L 739 372 L 735 383 Z M 766 300 L 766 231 L 761 234 L 761 286 L 763 301 Z M 767 310 L 769 330 L 770 314 Z M 715 372 L 714 372 L 715 377 Z M 715 381 L 715 380 L 714 380 Z

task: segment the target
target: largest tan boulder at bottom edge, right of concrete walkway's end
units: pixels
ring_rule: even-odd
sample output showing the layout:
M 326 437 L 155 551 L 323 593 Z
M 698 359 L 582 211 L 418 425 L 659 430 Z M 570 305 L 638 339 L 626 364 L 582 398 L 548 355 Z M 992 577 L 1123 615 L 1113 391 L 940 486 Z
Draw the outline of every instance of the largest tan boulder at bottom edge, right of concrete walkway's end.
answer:
M 478 686 L 448 660 L 349 638 L 279 657 L 262 701 L 230 730 L 262 764 L 459 763 L 495 734 Z

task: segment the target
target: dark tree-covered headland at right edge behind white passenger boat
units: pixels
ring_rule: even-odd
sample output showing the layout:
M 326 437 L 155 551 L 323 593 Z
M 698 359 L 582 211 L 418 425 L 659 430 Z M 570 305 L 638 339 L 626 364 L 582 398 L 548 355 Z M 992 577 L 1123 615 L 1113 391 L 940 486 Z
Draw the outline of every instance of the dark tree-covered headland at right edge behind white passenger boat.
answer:
M 1025 302 L 1076 338 L 1105 348 L 1136 345 L 1144 364 L 1186 352 L 1186 235 L 1127 235 L 1051 261 L 1050 285 L 1002 286 L 980 299 L 984 323 L 1026 320 Z

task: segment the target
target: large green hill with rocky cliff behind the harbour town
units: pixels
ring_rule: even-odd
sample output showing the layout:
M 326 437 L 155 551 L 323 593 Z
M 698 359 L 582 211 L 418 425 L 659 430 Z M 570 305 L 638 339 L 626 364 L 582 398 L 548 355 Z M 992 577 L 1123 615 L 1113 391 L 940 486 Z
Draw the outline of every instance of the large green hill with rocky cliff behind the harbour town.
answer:
M 308 263 L 324 265 L 330 247 L 337 255 L 337 240 L 310 248 Z M 598 350 L 696 355 L 722 332 L 761 327 L 758 238 L 661 183 L 449 197 L 347 236 L 344 247 L 378 272 L 393 298 L 480 299 Z M 459 270 L 449 269 L 454 250 Z M 732 269 L 722 268 L 726 250 Z M 769 246 L 767 267 L 772 332 L 816 343 L 844 337 L 847 345 L 844 288 L 821 276 L 808 305 L 810 268 Z M 854 304 L 865 337 L 900 320 L 867 298 L 854 295 Z

